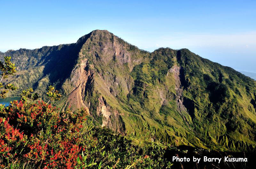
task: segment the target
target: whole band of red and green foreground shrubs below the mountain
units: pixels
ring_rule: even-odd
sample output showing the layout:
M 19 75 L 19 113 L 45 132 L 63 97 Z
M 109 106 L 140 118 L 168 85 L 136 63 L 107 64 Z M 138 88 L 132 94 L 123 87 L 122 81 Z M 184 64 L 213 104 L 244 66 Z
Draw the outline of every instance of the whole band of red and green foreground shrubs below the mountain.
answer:
M 113 134 L 87 112 L 58 113 L 45 102 L 11 102 L 0 110 L 1 168 L 166 168 L 164 148 Z M 152 133 L 152 128 L 148 130 Z M 149 135 L 144 135 L 149 136 Z

